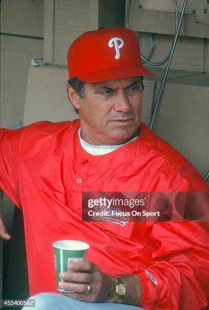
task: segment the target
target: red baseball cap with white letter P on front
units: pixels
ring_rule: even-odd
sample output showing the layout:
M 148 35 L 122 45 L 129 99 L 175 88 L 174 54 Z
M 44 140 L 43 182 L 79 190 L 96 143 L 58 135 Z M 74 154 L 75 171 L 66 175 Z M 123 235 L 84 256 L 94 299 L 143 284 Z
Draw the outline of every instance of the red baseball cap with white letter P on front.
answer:
M 136 33 L 123 27 L 81 34 L 71 44 L 67 61 L 70 79 L 78 77 L 87 83 L 155 75 L 142 66 Z

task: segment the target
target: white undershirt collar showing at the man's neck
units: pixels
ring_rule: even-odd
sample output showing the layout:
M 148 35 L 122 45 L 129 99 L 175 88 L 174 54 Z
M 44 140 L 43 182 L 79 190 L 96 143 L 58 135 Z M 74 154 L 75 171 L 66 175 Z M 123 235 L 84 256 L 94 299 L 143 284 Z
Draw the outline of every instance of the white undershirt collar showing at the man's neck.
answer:
M 133 139 L 131 139 L 130 141 L 128 141 L 127 143 L 123 143 L 123 144 L 119 144 L 119 145 L 92 145 L 87 143 L 86 141 L 84 141 L 81 138 L 81 128 L 79 128 L 78 130 L 78 135 L 79 135 L 79 139 L 80 139 L 80 144 L 81 146 L 90 154 L 92 155 L 104 155 L 107 153 L 112 152 L 113 150 L 119 148 L 120 146 L 126 145 L 134 140 L 136 140 L 138 137 L 134 137 Z

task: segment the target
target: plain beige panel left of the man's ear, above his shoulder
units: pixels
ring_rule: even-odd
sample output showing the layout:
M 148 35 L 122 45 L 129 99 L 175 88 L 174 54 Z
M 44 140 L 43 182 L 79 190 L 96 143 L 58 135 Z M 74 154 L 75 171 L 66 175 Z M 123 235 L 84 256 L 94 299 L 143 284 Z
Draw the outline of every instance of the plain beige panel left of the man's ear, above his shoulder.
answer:
M 40 120 L 61 122 L 78 117 L 67 98 L 67 79 L 68 72 L 64 68 L 29 68 L 24 125 Z

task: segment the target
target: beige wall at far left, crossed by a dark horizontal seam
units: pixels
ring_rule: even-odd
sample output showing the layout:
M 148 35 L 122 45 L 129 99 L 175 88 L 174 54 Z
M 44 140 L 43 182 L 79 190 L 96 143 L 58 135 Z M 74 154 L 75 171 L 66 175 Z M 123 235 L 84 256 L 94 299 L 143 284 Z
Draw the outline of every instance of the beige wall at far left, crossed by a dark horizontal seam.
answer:
M 23 121 L 27 71 L 43 57 L 44 0 L 1 3 L 1 127 Z

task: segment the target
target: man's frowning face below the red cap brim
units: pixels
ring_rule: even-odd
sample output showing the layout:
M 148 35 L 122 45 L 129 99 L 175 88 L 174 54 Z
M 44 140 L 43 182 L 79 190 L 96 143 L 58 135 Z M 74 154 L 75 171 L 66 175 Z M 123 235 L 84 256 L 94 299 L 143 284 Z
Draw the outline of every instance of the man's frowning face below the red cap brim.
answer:
M 69 88 L 68 88 L 69 89 Z M 94 145 L 116 145 L 128 141 L 142 117 L 142 85 L 139 76 L 85 83 L 84 97 L 77 96 L 83 140 Z

